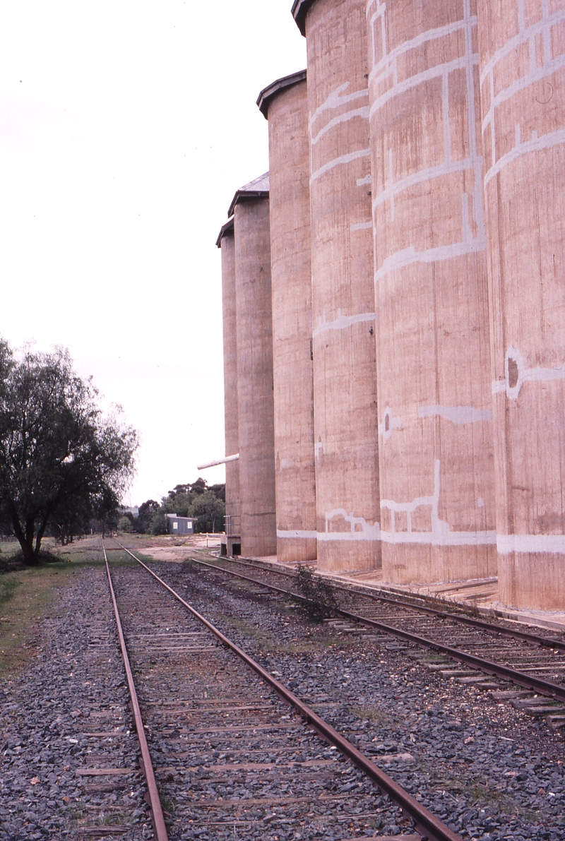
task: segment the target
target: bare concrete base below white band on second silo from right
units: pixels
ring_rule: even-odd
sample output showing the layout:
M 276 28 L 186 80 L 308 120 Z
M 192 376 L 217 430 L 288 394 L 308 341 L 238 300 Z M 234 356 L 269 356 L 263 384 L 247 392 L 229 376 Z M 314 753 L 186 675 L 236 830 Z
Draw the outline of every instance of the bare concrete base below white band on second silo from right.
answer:
M 382 544 L 383 581 L 388 584 L 433 584 L 470 581 L 497 574 L 494 544 L 431 546 L 418 543 Z

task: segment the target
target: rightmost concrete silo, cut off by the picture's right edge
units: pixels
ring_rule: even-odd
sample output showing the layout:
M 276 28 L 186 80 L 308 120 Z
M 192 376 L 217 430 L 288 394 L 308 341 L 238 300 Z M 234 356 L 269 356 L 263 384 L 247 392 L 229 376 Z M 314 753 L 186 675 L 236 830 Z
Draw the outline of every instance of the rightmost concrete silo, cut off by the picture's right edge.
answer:
M 479 0 L 499 598 L 565 605 L 565 3 Z

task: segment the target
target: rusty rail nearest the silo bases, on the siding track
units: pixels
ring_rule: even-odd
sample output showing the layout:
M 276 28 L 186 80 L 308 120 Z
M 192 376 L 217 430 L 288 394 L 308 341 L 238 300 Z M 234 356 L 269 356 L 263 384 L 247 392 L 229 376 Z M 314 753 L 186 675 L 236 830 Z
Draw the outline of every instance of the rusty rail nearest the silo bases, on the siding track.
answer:
M 221 558 L 222 560 L 230 561 L 230 563 L 239 563 L 241 566 L 244 567 L 251 567 L 251 569 L 256 569 L 257 571 L 272 573 L 273 575 L 283 575 L 285 578 L 295 578 L 295 573 L 288 572 L 286 569 L 268 569 L 267 567 L 260 567 L 257 566 L 255 563 L 250 563 L 249 561 L 236 561 L 233 558 Z M 193 558 L 193 560 L 197 560 Z M 197 563 L 201 563 L 198 562 Z M 217 567 L 217 569 L 224 569 L 223 567 Z M 226 570 L 227 571 L 227 570 Z M 438 610 L 436 607 L 427 607 L 425 605 L 415 605 L 410 601 L 404 601 L 402 599 L 397 599 L 396 597 L 388 596 L 388 595 L 376 595 L 375 593 L 367 593 L 365 590 L 353 590 L 351 587 L 346 587 L 344 584 L 335 584 L 332 579 L 325 578 L 325 576 L 316 573 L 318 577 L 324 581 L 328 581 L 334 590 L 341 590 L 344 593 L 351 593 L 355 595 L 362 595 L 366 599 L 371 599 L 372 601 L 383 601 L 388 605 L 394 605 L 397 607 L 405 607 L 406 610 L 414 611 L 415 613 L 427 613 L 429 616 L 436 616 L 438 619 L 452 619 L 453 621 L 460 622 L 462 625 L 469 625 L 471 627 L 480 628 L 483 631 L 488 631 L 492 633 L 498 633 L 503 637 L 509 637 L 510 639 L 521 639 L 526 643 L 535 643 L 536 645 L 540 645 L 544 648 L 556 648 L 557 651 L 565 652 L 565 642 L 558 639 L 553 639 L 552 637 L 540 637 L 538 634 L 534 634 L 528 631 L 518 631 L 515 628 L 506 628 L 506 627 L 499 627 L 498 625 L 494 625 L 492 622 L 484 621 L 483 619 L 473 619 L 471 616 L 462 616 L 461 613 L 451 613 L 449 611 L 441 611 Z M 262 582 L 261 582 L 262 583 Z M 359 586 L 358 584 L 356 586 Z

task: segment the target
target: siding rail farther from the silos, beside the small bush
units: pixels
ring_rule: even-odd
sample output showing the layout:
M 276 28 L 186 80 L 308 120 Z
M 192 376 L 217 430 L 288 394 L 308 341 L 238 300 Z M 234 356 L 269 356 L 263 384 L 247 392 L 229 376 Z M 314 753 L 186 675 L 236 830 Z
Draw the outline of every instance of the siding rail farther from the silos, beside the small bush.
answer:
M 128 552 L 129 550 L 126 549 L 125 551 Z M 282 587 L 275 587 L 274 584 L 265 584 L 264 581 L 257 581 L 257 579 L 252 579 L 248 575 L 241 575 L 240 573 L 232 572 L 230 569 L 217 567 L 214 563 L 199 561 L 197 558 L 192 558 L 192 560 L 194 563 L 200 563 L 204 567 L 215 569 L 217 572 L 227 573 L 228 575 L 235 576 L 235 578 L 250 581 L 251 584 L 258 584 L 261 587 L 267 588 L 267 590 L 274 590 L 274 592 L 282 595 L 290 595 L 294 599 L 308 601 L 308 599 L 304 598 L 304 595 L 293 593 L 292 590 L 283 590 Z M 539 692 L 540 695 L 554 698 L 556 701 L 565 701 L 565 685 L 562 686 L 554 684 L 551 680 L 542 680 L 541 678 L 536 678 L 530 674 L 520 672 L 517 669 L 510 669 L 510 666 L 503 666 L 502 664 L 494 663 L 492 660 L 485 660 L 481 657 L 476 657 L 474 654 L 469 654 L 466 651 L 462 651 L 460 648 L 451 648 L 451 646 L 444 645 L 443 643 L 436 643 L 435 640 L 428 639 L 427 637 L 420 637 L 415 633 L 403 631 L 401 628 L 394 627 L 393 625 L 387 625 L 384 622 L 377 621 L 376 619 L 369 619 L 367 616 L 360 616 L 358 613 L 344 611 L 341 608 L 331 608 L 331 610 L 335 611 L 335 613 L 339 613 L 340 616 L 344 616 L 346 619 L 351 619 L 351 621 L 359 622 L 362 625 L 367 625 L 367 627 L 378 628 L 379 631 L 388 633 L 390 636 L 399 637 L 409 643 L 415 643 L 415 645 L 420 646 L 420 648 L 430 648 L 433 651 L 439 651 L 442 654 L 446 654 L 451 659 L 457 660 L 458 663 L 472 666 L 473 669 L 479 669 L 479 671 L 485 672 L 486 674 L 494 674 L 495 677 L 503 678 L 504 680 L 511 680 L 512 683 L 523 686 L 525 689 L 531 690 L 532 692 Z M 447 616 L 449 616 L 449 614 Z

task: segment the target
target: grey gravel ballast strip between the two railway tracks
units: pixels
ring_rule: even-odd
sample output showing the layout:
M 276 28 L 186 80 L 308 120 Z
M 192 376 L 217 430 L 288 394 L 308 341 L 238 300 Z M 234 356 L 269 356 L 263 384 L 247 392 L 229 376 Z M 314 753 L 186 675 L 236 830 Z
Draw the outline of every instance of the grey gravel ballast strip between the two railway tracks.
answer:
M 562 740 L 545 721 L 496 689 L 428 669 L 433 654 L 422 663 L 398 640 L 304 623 L 263 587 L 188 565 L 153 569 L 379 764 L 386 758 L 388 773 L 462 837 L 561 841 Z

